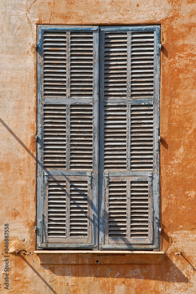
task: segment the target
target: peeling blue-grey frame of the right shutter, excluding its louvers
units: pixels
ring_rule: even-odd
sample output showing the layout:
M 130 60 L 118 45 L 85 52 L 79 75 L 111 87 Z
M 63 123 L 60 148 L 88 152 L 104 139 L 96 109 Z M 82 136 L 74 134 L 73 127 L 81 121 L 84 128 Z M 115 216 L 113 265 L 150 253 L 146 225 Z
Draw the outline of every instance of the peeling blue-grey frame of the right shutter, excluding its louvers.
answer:
M 126 31 L 127 32 L 127 39 L 128 44 L 131 42 L 131 34 L 132 32 L 152 32 L 154 34 L 154 93 L 153 97 L 150 98 L 147 96 L 147 98 L 137 98 L 132 96 L 132 89 L 131 89 L 131 71 L 129 71 L 129 68 L 131 69 L 131 60 L 130 60 L 130 54 L 132 52 L 132 48 L 128 48 L 128 64 L 127 64 L 127 99 L 125 98 L 113 98 L 113 99 L 106 99 L 104 103 L 104 58 L 101 57 L 104 56 L 104 34 L 107 32 L 120 32 L 120 31 Z M 104 121 L 103 121 L 103 110 L 104 105 L 127 105 L 127 128 L 128 132 L 130 132 L 131 128 L 131 114 L 130 109 L 132 106 L 137 105 L 143 105 L 147 106 L 150 105 L 154 109 L 154 136 L 153 136 L 153 146 L 154 146 L 154 162 L 153 162 L 153 168 L 152 170 L 131 170 L 130 166 L 130 133 L 127 136 L 127 170 L 126 171 L 110 171 L 110 170 L 104 170 L 103 162 L 100 162 L 100 180 L 99 180 L 99 215 L 100 215 L 100 235 L 99 235 L 99 248 L 100 249 L 153 249 L 155 251 L 159 250 L 160 244 L 159 244 L 159 234 L 157 227 L 159 226 L 159 148 L 158 151 L 155 148 L 155 143 L 158 140 L 158 135 L 156 134 L 156 128 L 159 130 L 159 99 L 160 99 L 160 50 L 158 50 L 158 44 L 160 44 L 160 26 L 131 26 L 131 27 L 100 27 L 100 161 L 103 161 L 104 153 L 103 153 L 103 145 L 101 142 L 104 138 L 103 133 L 103 127 L 104 127 Z M 146 90 L 147 91 L 147 90 Z M 147 160 L 147 159 L 146 159 Z M 104 175 L 107 175 L 104 176 Z M 153 205 L 151 207 L 151 217 L 150 217 L 150 223 L 151 223 L 151 232 L 149 241 L 141 244 L 139 242 L 139 239 L 129 244 L 106 244 L 105 240 L 107 240 L 107 229 L 106 232 L 104 232 L 103 226 L 104 226 L 104 218 L 105 216 L 105 209 L 108 203 L 105 203 L 105 185 L 104 185 L 104 178 L 110 179 L 111 177 L 133 177 L 133 176 L 147 176 L 148 178 L 153 178 L 153 193 L 152 193 L 152 202 Z M 106 205 L 106 206 L 105 206 Z M 107 224 L 107 220 L 106 220 Z

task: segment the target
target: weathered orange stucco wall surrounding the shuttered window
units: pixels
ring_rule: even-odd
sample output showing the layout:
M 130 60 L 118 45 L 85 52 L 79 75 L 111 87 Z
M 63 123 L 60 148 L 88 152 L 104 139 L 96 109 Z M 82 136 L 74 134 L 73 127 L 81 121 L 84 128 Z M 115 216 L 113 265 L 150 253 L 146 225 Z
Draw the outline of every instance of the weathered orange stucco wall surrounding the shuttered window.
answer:
M 0 1 L 0 240 L 17 294 L 196 293 L 195 0 Z M 161 263 L 39 264 L 36 249 L 36 25 L 161 24 Z M 183 252 L 182 256 L 175 255 Z M 55 258 L 53 258 L 55 262 Z M 82 260 L 82 258 L 81 258 Z M 78 263 L 81 261 L 78 261 Z M 147 264 L 146 264 L 147 263 Z

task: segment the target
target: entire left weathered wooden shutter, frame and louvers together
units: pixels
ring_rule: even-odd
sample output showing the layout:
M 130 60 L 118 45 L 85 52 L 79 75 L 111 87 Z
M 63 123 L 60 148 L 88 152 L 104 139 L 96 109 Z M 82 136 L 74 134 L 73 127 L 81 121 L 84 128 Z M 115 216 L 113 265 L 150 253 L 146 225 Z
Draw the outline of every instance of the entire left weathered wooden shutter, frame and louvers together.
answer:
M 38 248 L 96 248 L 98 36 L 38 26 Z

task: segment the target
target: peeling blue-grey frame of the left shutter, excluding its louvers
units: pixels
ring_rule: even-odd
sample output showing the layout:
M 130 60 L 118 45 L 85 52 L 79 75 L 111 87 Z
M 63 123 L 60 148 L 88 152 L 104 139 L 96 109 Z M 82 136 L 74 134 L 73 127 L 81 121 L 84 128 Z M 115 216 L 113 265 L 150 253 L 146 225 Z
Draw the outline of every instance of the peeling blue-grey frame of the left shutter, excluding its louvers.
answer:
M 51 34 L 55 32 L 65 34 L 68 36 L 67 40 L 69 41 L 70 35 L 75 34 L 87 34 L 92 36 L 93 42 L 91 42 L 91 52 L 92 52 L 92 66 L 93 66 L 93 74 L 92 74 L 92 95 L 90 97 L 85 97 L 81 95 L 81 97 L 77 98 L 70 98 L 70 91 L 69 91 L 69 83 L 67 84 L 67 97 L 45 97 L 43 98 L 43 43 L 44 43 L 44 32 L 50 31 Z M 54 32 L 54 33 L 53 33 Z M 76 38 L 77 39 L 77 38 Z M 75 48 L 79 48 L 82 44 L 82 38 L 79 36 L 78 45 L 76 44 Z M 84 39 L 84 38 L 83 38 Z M 89 38 L 87 38 L 89 39 Z M 37 179 L 37 220 L 39 224 L 39 231 L 37 231 L 37 249 L 42 248 L 87 248 L 87 249 L 96 249 L 98 245 L 98 199 L 96 197 L 98 191 L 98 49 L 99 49 L 99 32 L 97 26 L 48 26 L 48 25 L 38 25 L 38 40 L 41 46 L 41 50 L 38 51 L 38 126 L 41 126 L 41 136 L 39 142 L 41 142 L 41 149 L 38 148 L 38 179 Z M 84 42 L 83 42 L 84 43 Z M 77 47 L 78 46 L 78 47 Z M 67 46 L 67 50 L 70 51 L 70 46 Z M 85 51 L 83 51 L 85 54 Z M 69 57 L 71 56 L 70 54 Z M 78 55 L 77 55 L 78 56 Z M 51 60 L 51 59 L 49 59 Z M 60 59 L 61 60 L 61 59 Z M 78 61 L 76 61 L 76 66 Z M 86 63 L 87 64 L 87 63 Z M 69 70 L 70 67 L 70 58 L 67 58 L 67 69 Z M 84 68 L 85 70 L 85 68 Z M 70 81 L 69 75 L 67 81 Z M 60 85 L 61 87 L 61 85 Z M 72 86 L 73 87 L 73 86 Z M 89 87 L 89 86 L 88 86 Z M 53 94 L 52 94 L 53 95 Z M 44 105 L 66 105 L 66 164 L 64 168 L 61 169 L 44 169 L 43 168 L 43 113 L 44 113 Z M 92 132 L 93 132 L 93 168 L 87 167 L 86 170 L 78 169 L 75 170 L 70 169 L 70 133 L 68 130 L 70 129 L 70 108 L 71 105 L 75 105 L 78 107 L 82 107 L 82 105 L 90 105 L 93 107 L 93 125 L 92 125 Z M 54 140 L 57 142 L 58 140 Z M 58 242 L 54 242 L 55 240 L 51 239 L 49 243 L 48 236 L 47 236 L 47 183 L 46 179 L 50 177 L 58 177 L 58 176 L 67 176 L 67 177 L 84 177 L 88 182 L 88 187 L 90 187 L 90 183 L 92 183 L 92 199 L 89 201 L 90 207 L 90 216 L 88 218 L 88 240 L 81 240 L 81 242 L 77 242 L 77 239 L 72 238 L 71 240 L 58 240 Z M 88 180 L 91 178 L 90 180 Z M 92 200 L 92 201 L 91 201 Z M 58 203 L 57 203 L 58 204 Z M 90 234 L 90 235 L 89 235 Z

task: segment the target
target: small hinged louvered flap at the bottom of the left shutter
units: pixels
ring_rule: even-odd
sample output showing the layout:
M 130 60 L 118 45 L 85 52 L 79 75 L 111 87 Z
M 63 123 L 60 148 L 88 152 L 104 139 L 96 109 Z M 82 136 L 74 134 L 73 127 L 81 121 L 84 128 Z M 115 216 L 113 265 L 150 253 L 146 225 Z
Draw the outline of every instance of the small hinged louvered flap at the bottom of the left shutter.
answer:
M 92 189 L 88 176 L 48 176 L 45 182 L 47 243 L 91 242 Z

